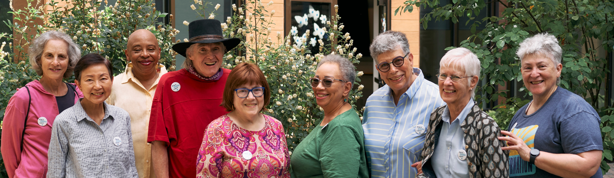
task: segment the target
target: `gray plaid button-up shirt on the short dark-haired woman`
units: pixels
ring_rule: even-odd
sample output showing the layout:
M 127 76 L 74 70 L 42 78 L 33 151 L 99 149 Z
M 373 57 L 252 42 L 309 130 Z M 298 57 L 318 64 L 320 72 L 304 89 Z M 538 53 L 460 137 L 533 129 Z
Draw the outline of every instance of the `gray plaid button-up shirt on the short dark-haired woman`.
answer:
M 49 122 L 53 129 L 47 177 L 138 177 L 130 115 L 106 103 L 104 108 L 100 125 L 80 102 Z

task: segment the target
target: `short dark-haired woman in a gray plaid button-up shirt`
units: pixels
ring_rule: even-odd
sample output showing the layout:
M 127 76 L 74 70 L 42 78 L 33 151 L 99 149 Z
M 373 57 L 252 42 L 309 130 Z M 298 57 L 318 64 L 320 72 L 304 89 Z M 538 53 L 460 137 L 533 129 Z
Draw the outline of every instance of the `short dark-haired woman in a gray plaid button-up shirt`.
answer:
M 138 177 L 130 115 L 104 103 L 111 94 L 111 63 L 95 53 L 79 59 L 75 83 L 84 98 L 56 117 L 47 177 Z

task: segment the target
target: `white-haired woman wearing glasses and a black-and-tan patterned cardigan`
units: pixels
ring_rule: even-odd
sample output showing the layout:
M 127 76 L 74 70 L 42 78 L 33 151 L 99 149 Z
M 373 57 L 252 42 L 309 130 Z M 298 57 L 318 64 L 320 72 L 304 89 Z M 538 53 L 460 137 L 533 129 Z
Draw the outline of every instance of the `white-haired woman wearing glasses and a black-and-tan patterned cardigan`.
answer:
M 445 106 L 430 114 L 418 177 L 508 177 L 501 129 L 473 101 L 480 60 L 467 48 L 454 48 L 439 63 L 439 93 Z

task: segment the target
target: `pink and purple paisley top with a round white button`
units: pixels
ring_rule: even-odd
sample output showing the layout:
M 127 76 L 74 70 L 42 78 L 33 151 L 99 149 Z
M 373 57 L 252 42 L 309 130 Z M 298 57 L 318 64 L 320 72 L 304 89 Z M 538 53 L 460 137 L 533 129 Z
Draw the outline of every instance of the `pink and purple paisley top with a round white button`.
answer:
M 196 177 L 290 177 L 284 127 L 264 117 L 260 131 L 244 130 L 228 115 L 211 122 L 198 151 Z M 246 151 L 252 156 L 244 156 Z

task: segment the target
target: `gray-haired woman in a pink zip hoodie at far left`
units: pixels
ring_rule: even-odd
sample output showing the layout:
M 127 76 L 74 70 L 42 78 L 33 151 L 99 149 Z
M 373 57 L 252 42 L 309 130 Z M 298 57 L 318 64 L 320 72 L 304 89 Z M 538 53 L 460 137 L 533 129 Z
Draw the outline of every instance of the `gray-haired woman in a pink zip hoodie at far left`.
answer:
M 0 152 L 9 177 L 44 177 L 53 120 L 83 97 L 74 83 L 63 82 L 81 56 L 70 36 L 47 31 L 29 46 L 29 62 L 41 75 L 17 89 L 6 108 Z

